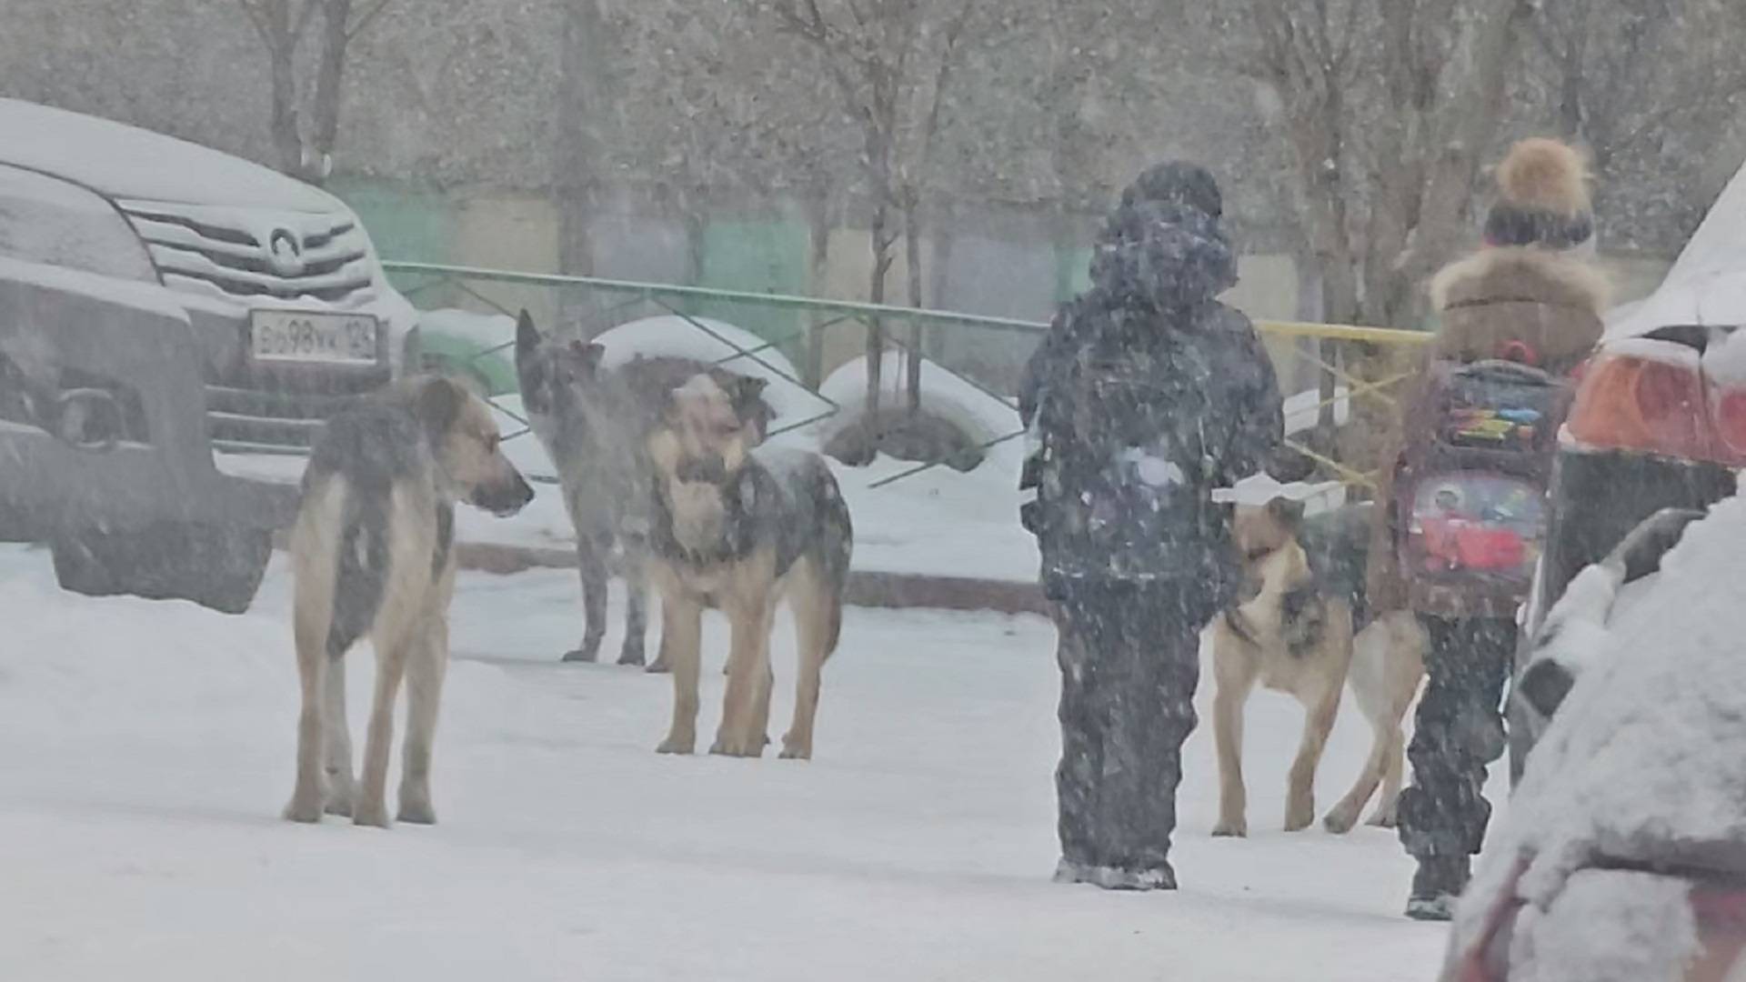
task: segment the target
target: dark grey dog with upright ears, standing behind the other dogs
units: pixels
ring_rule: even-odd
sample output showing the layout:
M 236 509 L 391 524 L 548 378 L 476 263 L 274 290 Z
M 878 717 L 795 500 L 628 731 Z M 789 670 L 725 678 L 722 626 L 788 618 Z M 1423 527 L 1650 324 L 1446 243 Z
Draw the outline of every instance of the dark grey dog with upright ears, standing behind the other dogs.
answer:
M 625 641 L 618 664 L 644 660 L 648 634 L 650 467 L 644 439 L 660 423 L 667 395 L 707 369 L 690 358 L 634 358 L 618 370 L 602 369 L 606 349 L 580 339 L 541 337 L 527 311 L 515 325 L 515 376 L 527 425 L 552 458 L 564 488 L 564 508 L 576 529 L 581 575 L 581 645 L 566 662 L 592 662 L 606 640 L 608 561 L 623 550 Z M 772 418 L 760 398 L 760 440 Z M 656 657 L 650 671 L 665 671 Z

